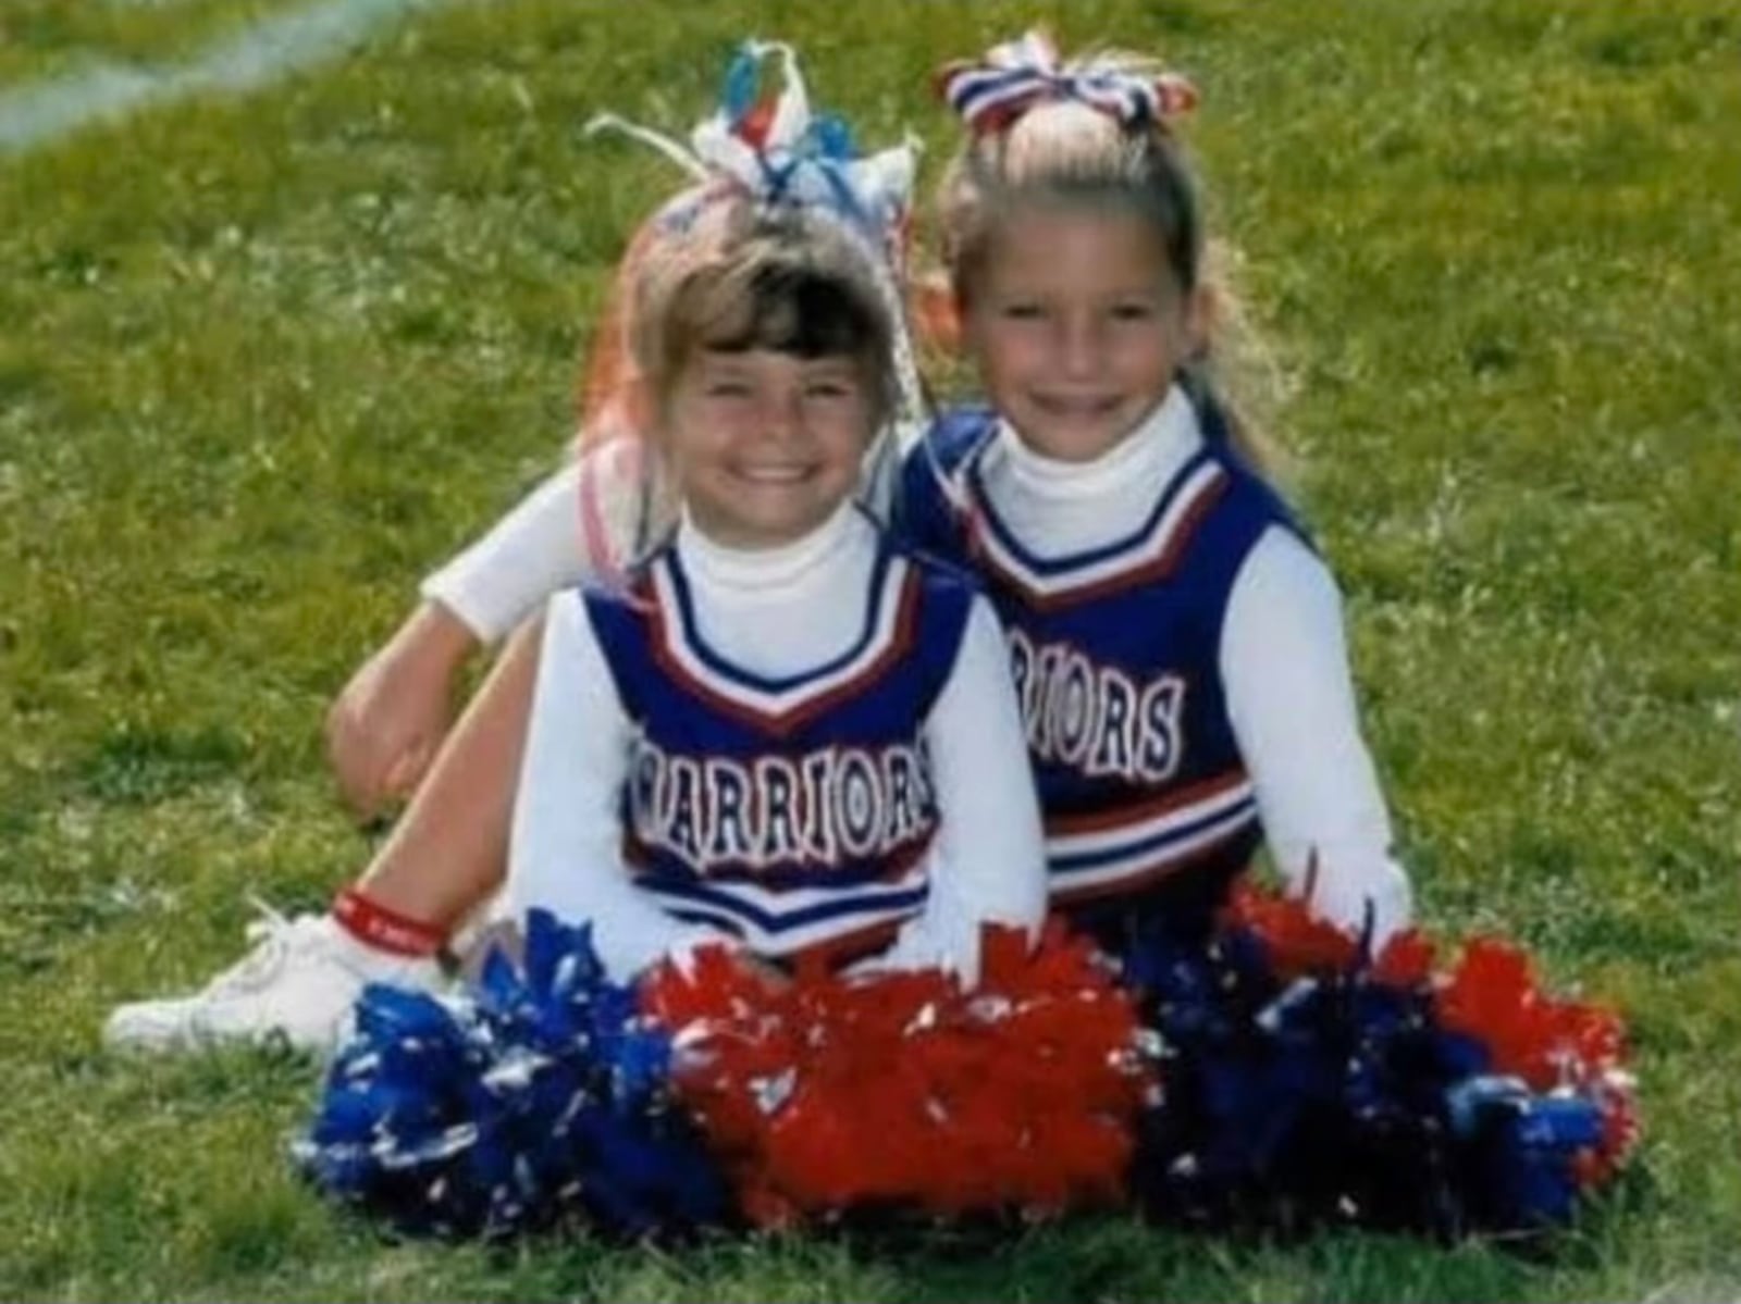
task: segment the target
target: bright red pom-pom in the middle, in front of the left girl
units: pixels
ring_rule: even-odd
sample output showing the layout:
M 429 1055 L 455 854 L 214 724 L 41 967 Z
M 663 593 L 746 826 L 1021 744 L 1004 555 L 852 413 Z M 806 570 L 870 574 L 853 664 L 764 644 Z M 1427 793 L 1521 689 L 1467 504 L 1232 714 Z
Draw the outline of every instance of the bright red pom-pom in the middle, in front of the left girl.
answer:
M 987 930 L 973 989 L 937 971 L 775 985 L 703 952 L 653 975 L 674 1079 L 764 1226 L 862 1205 L 1029 1213 L 1118 1198 L 1153 1078 L 1086 942 Z

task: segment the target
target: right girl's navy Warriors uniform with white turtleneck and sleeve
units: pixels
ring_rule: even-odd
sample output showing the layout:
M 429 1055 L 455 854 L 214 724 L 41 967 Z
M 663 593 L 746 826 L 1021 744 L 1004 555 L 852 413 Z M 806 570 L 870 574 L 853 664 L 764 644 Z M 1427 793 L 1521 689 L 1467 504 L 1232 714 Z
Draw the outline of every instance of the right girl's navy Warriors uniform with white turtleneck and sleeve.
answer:
M 1320 914 L 1407 921 L 1335 583 L 1212 407 L 1175 386 L 1092 463 L 952 413 L 907 458 L 898 522 L 998 606 L 1052 897 L 1102 942 L 1207 928 L 1260 841 Z

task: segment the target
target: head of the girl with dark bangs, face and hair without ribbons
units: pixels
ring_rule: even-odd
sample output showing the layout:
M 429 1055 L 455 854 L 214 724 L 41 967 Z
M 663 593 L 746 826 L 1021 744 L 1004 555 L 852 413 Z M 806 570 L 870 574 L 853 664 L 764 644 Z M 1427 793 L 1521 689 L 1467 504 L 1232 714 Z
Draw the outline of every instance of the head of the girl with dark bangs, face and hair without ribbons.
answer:
M 790 543 L 858 487 L 893 393 L 870 259 L 818 214 L 726 204 L 648 263 L 630 317 L 637 407 L 716 543 Z

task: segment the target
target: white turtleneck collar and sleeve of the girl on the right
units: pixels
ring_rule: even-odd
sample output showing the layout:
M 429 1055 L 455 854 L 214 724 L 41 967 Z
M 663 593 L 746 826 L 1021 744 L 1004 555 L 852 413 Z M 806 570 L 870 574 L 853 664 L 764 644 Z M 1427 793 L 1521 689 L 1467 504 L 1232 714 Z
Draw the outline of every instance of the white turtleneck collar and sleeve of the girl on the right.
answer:
M 1095 461 L 1043 458 L 1008 425 L 984 463 L 999 519 L 1041 557 L 1128 538 L 1154 494 L 1203 446 L 1180 390 Z M 1410 916 L 1408 877 L 1360 731 L 1342 632 L 1342 595 L 1323 561 L 1271 526 L 1227 599 L 1219 669 L 1227 714 L 1276 867 L 1311 905 L 1358 930 L 1370 902 L 1377 937 Z

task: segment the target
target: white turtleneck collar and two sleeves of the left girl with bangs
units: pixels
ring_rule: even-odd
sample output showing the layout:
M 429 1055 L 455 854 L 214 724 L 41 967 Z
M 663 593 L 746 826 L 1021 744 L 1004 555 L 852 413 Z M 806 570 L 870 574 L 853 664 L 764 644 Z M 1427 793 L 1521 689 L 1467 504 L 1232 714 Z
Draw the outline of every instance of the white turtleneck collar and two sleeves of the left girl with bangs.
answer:
M 677 531 L 695 620 L 738 669 L 785 677 L 860 635 L 876 531 L 846 508 L 806 538 L 745 552 Z M 508 855 L 515 912 L 592 919 L 606 966 L 627 977 L 724 935 L 665 914 L 623 862 L 620 792 L 632 724 L 578 592 L 548 604 Z M 940 829 L 926 905 L 879 963 L 978 971 L 982 923 L 1032 930 L 1045 914 L 1045 850 L 1008 653 L 991 604 L 973 601 L 961 651 L 923 728 Z

